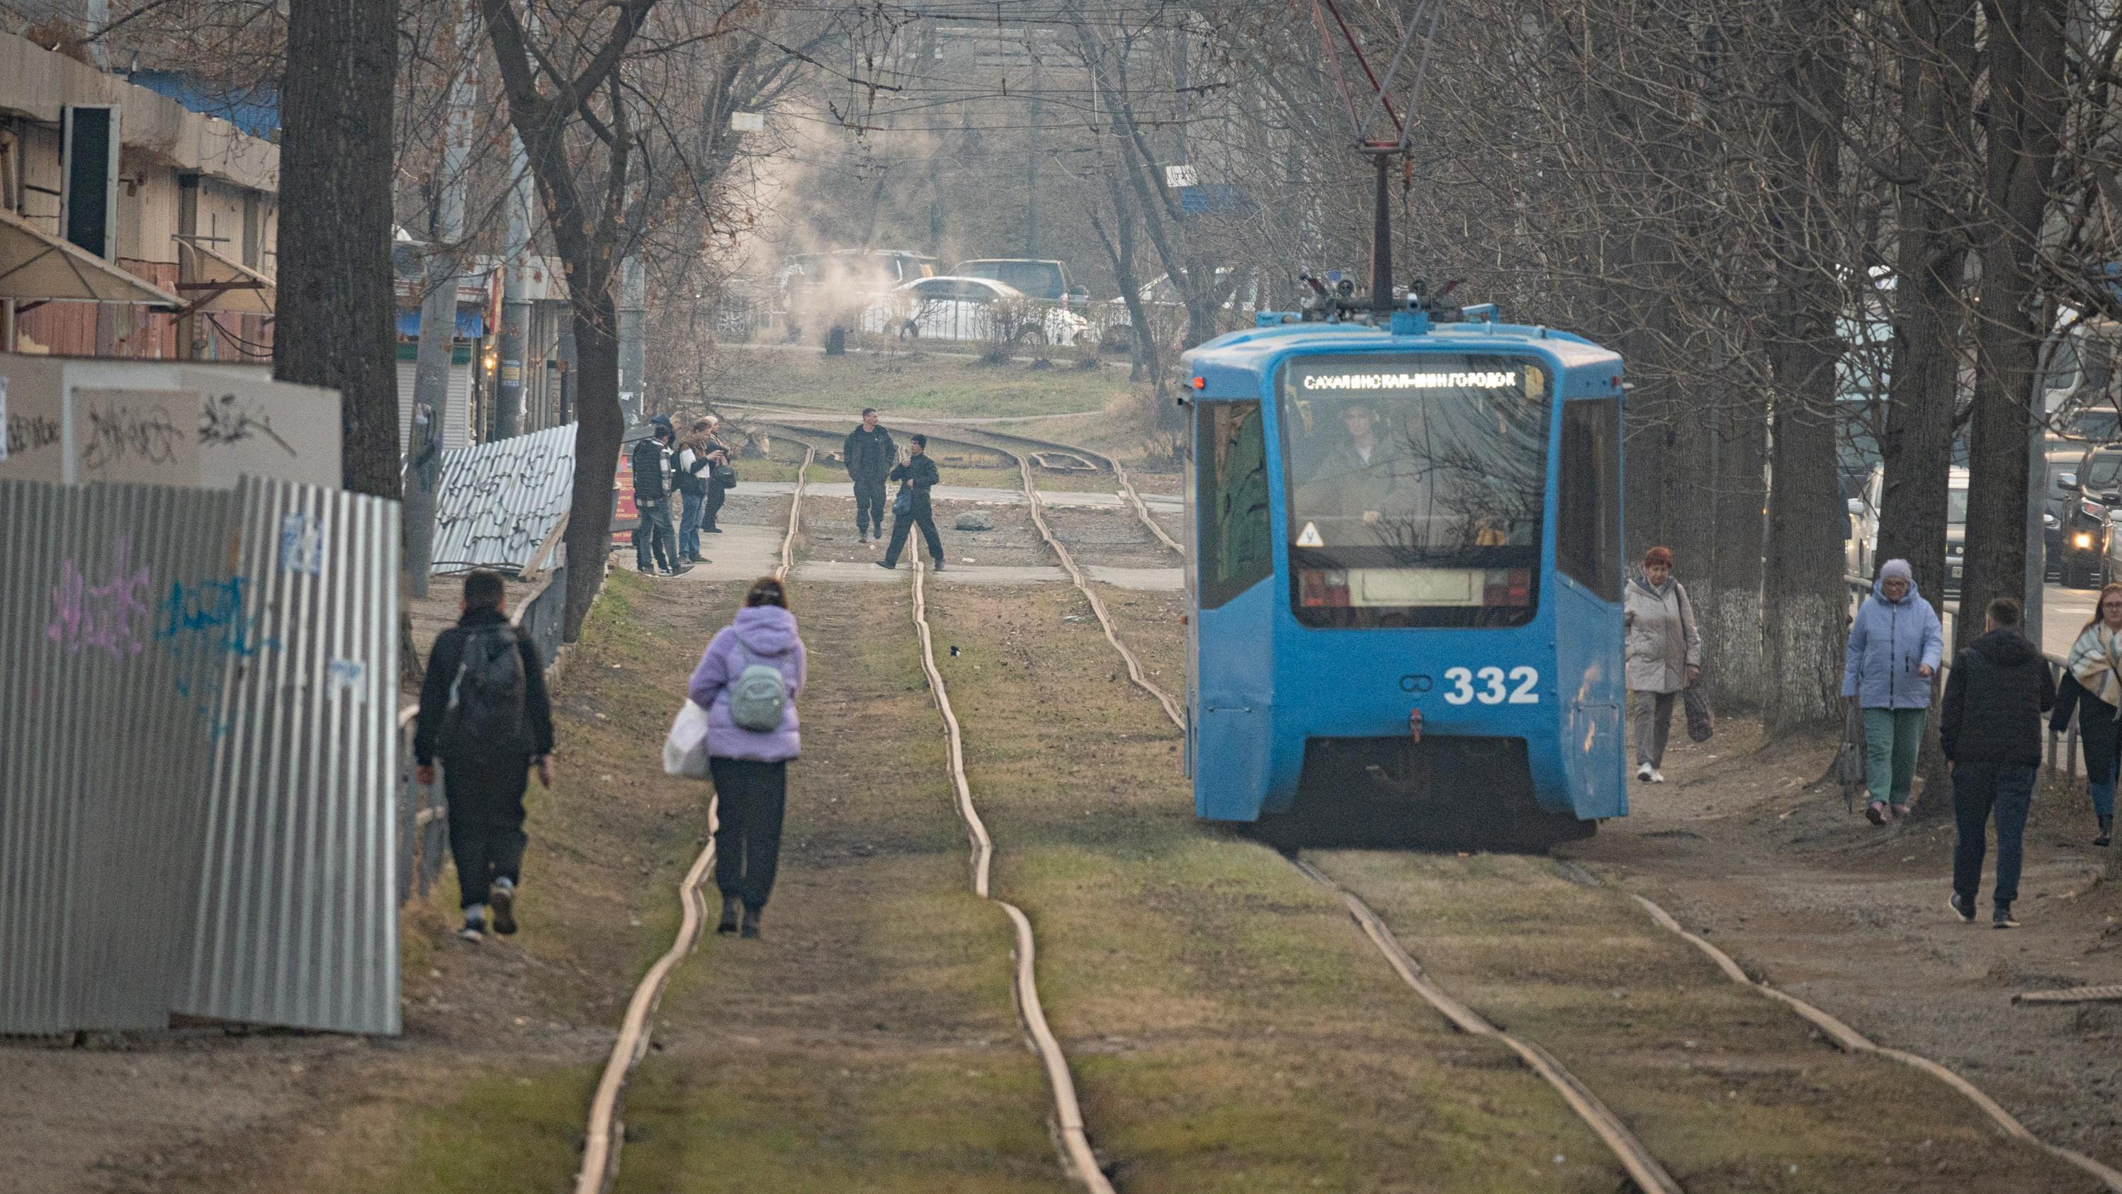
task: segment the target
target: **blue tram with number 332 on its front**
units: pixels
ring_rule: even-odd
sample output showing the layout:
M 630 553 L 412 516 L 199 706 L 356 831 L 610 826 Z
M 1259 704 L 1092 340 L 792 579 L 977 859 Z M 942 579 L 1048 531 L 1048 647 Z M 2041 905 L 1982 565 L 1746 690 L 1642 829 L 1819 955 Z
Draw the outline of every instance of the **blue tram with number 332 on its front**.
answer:
M 1621 358 L 1432 314 L 1184 358 L 1203 819 L 1541 848 L 1628 812 Z

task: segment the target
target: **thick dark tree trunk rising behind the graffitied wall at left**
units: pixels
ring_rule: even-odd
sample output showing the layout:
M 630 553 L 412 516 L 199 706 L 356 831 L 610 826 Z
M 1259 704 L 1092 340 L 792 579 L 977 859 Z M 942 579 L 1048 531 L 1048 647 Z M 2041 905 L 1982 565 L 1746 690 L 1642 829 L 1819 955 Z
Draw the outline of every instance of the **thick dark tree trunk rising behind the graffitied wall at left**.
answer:
M 280 81 L 280 278 L 274 377 L 340 390 L 340 467 L 399 496 L 390 295 L 397 4 L 291 0 Z

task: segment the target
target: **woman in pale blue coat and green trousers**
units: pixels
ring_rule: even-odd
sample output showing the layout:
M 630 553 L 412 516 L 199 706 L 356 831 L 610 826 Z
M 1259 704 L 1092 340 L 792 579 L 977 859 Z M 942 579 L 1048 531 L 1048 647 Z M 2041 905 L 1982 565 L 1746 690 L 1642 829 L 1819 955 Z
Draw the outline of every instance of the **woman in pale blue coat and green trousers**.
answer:
M 1857 607 L 1842 660 L 1842 696 L 1863 708 L 1865 785 L 1872 789 L 1865 817 L 1872 825 L 1884 825 L 1889 812 L 1908 814 L 1931 677 L 1944 655 L 1946 630 L 1916 592 L 1908 560 L 1886 560 L 1872 596 Z

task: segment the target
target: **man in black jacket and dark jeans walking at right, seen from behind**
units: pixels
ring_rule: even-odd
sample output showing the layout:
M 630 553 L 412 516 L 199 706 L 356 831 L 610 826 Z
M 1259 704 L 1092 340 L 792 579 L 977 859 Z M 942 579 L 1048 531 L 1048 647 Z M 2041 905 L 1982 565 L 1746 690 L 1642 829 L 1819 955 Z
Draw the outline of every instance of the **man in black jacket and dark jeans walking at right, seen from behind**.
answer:
M 1982 886 L 1982 850 L 1988 819 L 1997 814 L 1997 893 L 1990 923 L 2016 929 L 2020 838 L 2041 766 L 2041 715 L 2056 704 L 2048 660 L 2018 632 L 2018 602 L 1988 607 L 1988 632 L 1952 662 L 1946 704 L 1937 721 L 1940 744 L 1952 763 L 1952 814 L 1959 846 L 1952 850 L 1952 914 L 1976 918 Z

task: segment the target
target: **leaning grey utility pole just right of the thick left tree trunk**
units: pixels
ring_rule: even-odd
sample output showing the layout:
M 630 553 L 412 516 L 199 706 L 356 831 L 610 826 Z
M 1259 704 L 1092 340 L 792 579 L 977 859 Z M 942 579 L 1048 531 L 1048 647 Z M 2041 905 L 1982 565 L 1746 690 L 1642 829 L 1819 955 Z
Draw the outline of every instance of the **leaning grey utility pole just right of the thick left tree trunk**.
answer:
M 480 30 L 458 0 L 456 62 L 450 115 L 443 125 L 435 193 L 435 240 L 427 257 L 427 299 L 420 303 L 420 352 L 412 382 L 412 443 L 405 450 L 405 575 L 412 596 L 427 596 L 435 564 L 435 490 L 441 486 L 441 418 L 450 407 L 450 363 L 456 356 L 458 242 L 465 238 L 465 165 L 471 157 L 471 106 L 480 85 L 471 49 Z

